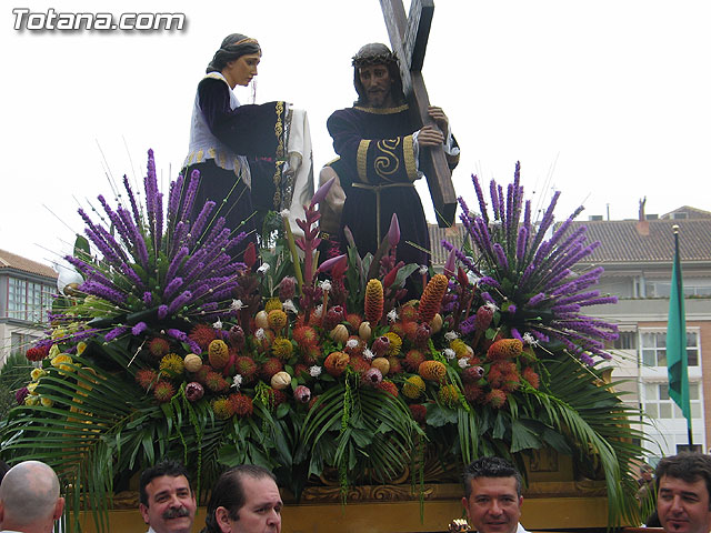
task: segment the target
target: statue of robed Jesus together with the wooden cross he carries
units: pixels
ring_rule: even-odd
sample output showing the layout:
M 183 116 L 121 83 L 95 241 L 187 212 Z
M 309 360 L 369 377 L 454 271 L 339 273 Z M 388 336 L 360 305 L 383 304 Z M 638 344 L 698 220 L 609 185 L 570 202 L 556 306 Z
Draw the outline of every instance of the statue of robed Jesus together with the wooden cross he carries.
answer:
M 361 255 L 375 253 L 394 213 L 401 230 L 398 260 L 428 264 L 429 232 L 413 181 L 427 175 L 438 221 L 451 224 L 455 200 L 450 170 L 459 160 L 459 147 L 444 112 L 429 105 L 419 72 L 429 31 L 420 30 L 418 37 L 418 28 L 427 22 L 422 3 L 412 2 L 410 24 L 414 30 L 409 33 L 399 29 L 402 20 L 398 13 L 404 19 L 401 0 L 381 3 L 397 53 L 384 44 L 371 43 L 353 57 L 359 98 L 352 108 L 336 111 L 328 120 L 339 159 L 321 171 L 321 181 L 337 174 L 346 194 L 341 247 L 346 245 L 343 228 L 348 227 Z M 415 37 L 408 41 L 410 34 Z M 336 229 L 326 228 L 329 230 Z

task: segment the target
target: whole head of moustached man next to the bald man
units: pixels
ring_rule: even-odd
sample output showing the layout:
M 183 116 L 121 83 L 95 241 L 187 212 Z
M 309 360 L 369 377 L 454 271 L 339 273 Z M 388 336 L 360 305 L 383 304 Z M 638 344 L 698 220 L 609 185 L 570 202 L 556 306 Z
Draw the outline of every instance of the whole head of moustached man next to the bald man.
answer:
M 162 461 L 144 470 L 140 481 L 139 510 L 148 533 L 190 533 L 196 519 L 196 495 L 186 467 Z

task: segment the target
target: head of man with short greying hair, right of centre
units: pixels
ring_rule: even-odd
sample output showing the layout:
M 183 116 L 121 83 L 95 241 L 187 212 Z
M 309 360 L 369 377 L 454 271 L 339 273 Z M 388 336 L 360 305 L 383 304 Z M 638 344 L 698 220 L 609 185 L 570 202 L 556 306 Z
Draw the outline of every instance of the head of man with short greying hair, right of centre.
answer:
M 479 533 L 527 533 L 521 517 L 521 474 L 501 457 L 481 457 L 464 469 L 469 523 Z

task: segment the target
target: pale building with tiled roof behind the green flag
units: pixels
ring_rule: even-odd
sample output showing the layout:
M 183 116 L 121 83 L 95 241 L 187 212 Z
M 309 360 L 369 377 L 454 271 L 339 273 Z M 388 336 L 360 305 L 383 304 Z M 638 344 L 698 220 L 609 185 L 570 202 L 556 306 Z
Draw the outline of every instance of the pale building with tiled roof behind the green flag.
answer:
M 591 314 L 615 322 L 620 339 L 617 379 L 629 380 L 618 390 L 629 391 L 629 402 L 649 415 L 650 459 L 673 454 L 688 443 L 687 421 L 669 398 L 667 374 L 667 319 L 674 257 L 673 227 L 679 227 L 687 312 L 687 353 L 694 444 L 711 445 L 711 213 L 683 207 L 662 217 L 605 221 L 591 218 L 574 227 L 588 228 L 588 242 L 601 245 L 581 264 L 601 265 L 598 289 L 615 294 L 617 305 L 591 308 Z M 574 228 L 573 228 L 574 229 Z

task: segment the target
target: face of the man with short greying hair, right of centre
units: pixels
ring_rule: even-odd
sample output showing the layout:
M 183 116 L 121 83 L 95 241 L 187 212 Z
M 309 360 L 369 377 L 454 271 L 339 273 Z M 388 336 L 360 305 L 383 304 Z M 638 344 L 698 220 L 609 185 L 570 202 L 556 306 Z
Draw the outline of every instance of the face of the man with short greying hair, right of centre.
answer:
M 471 494 L 462 497 L 462 505 L 471 526 L 479 533 L 513 533 L 523 503 L 515 477 L 477 477 L 470 483 Z

